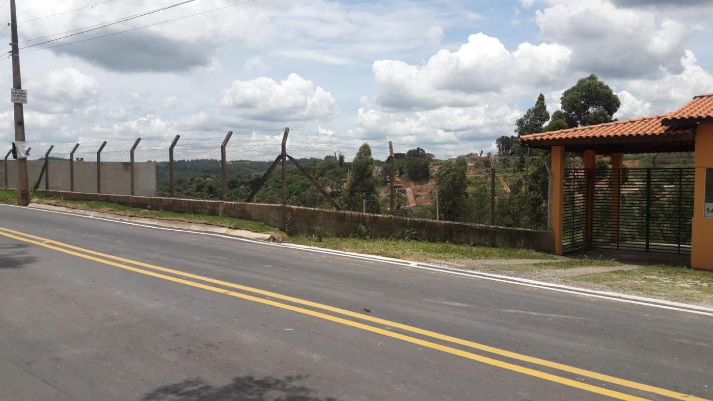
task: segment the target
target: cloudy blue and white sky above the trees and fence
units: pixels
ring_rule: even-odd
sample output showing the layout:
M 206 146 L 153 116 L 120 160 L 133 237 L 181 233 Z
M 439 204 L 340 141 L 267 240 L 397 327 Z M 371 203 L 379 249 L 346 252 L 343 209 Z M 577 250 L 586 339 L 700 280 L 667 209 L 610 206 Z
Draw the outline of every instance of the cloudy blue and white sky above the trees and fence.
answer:
M 290 126 L 305 145 L 353 147 L 355 137 L 448 156 L 488 151 L 538 93 L 555 111 L 589 73 L 619 94 L 617 118 L 713 92 L 708 0 L 255 0 L 67 44 L 238 3 L 193 0 L 41 44 L 179 2 L 109 0 L 36 19 L 99 1 L 19 1 L 26 132 L 37 148 L 228 130 L 255 130 L 257 141 Z M 9 6 L 0 13 L 9 19 Z M 12 118 L 8 101 L 4 143 Z

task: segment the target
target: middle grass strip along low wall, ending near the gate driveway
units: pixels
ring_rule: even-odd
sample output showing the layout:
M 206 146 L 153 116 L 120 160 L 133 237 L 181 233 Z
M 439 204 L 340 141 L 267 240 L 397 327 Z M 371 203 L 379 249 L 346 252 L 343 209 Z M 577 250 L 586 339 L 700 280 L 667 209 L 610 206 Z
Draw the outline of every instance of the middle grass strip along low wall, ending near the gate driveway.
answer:
M 456 259 L 553 259 L 553 255 L 535 250 L 491 248 L 454 243 L 428 243 L 421 241 L 394 240 L 389 238 L 324 238 L 318 242 L 312 237 L 294 235 L 292 243 L 314 245 L 320 248 L 367 253 L 406 260 L 456 260 Z

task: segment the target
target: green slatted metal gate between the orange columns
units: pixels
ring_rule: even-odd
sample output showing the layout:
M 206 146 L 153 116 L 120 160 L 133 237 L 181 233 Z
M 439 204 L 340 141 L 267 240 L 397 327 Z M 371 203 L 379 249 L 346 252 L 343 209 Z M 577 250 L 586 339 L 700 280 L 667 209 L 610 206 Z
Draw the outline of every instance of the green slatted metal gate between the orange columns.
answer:
M 563 250 L 690 254 L 693 191 L 694 168 L 567 169 Z

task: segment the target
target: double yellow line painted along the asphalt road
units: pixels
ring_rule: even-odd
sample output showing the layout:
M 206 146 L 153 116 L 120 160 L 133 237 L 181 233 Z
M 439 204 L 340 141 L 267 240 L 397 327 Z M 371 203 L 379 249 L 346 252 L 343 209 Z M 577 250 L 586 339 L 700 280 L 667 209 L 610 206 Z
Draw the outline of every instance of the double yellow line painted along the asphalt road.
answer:
M 319 312 L 318 310 L 324 310 L 327 312 L 335 313 L 337 315 L 343 315 L 343 316 L 347 316 L 349 318 L 364 320 L 366 322 L 376 323 L 378 325 L 384 325 L 384 326 L 387 326 L 390 328 L 398 328 L 400 330 L 403 330 L 404 332 L 414 333 L 414 334 L 418 334 L 418 335 L 421 335 L 424 337 L 430 337 L 432 339 L 441 340 L 444 342 L 451 342 L 453 344 L 462 345 L 464 347 L 469 347 L 469 348 L 472 348 L 475 350 L 489 352 L 493 355 L 498 355 L 500 357 L 507 357 L 507 358 L 510 358 L 512 360 L 516 360 L 519 362 L 527 362 L 532 365 L 540 365 L 542 367 L 548 367 L 553 370 L 560 370 L 562 372 L 567 372 L 571 375 L 577 375 L 577 376 L 581 376 L 581 377 L 589 377 L 590 379 L 598 380 L 600 382 L 607 382 L 607 383 L 610 383 L 613 385 L 628 387 L 628 388 L 634 389 L 634 390 L 650 392 L 650 393 L 656 394 L 656 395 L 663 395 L 665 397 L 671 397 L 676 400 L 704 400 L 703 398 L 693 397 L 691 395 L 686 395 L 686 394 L 683 394 L 680 392 L 674 392 L 672 390 L 666 390 L 666 389 L 663 389 L 660 387 L 645 385 L 645 384 L 642 384 L 639 382 L 633 382 L 631 380 L 625 380 L 625 379 L 621 379 L 619 377 L 613 377 L 610 375 L 603 375 L 601 373 L 597 373 L 597 372 L 593 372 L 593 371 L 585 370 L 585 369 L 580 369 L 578 367 L 573 367 L 570 365 L 564 365 L 564 364 L 561 364 L 558 362 L 543 360 L 543 359 L 540 359 L 537 357 L 530 357 L 528 355 L 519 354 L 517 352 L 502 350 L 500 348 L 491 347 L 489 345 L 479 344 L 478 342 L 463 340 L 461 338 L 451 337 L 449 335 L 443 335 L 441 333 L 436 333 L 436 332 L 433 332 L 430 330 L 424 330 L 421 328 L 416 328 L 414 326 L 392 322 L 390 320 L 374 318 L 371 315 L 355 313 L 351 310 L 334 308 L 333 306 L 324 305 L 321 303 L 314 303 L 309 300 L 302 300 L 300 298 L 294 298 L 294 297 L 290 297 L 288 295 L 282 295 L 279 293 L 272 293 L 271 291 L 260 290 L 259 288 L 247 287 L 245 285 L 229 283 L 229 282 L 223 281 L 223 280 L 215 280 L 214 278 L 208 278 L 208 277 L 204 277 L 201 275 L 195 275 L 193 273 L 183 272 L 180 270 L 163 268 L 163 267 L 160 267 L 157 265 L 151 265 L 148 263 L 142 263 L 142 262 L 138 262 L 135 260 L 120 258 L 120 257 L 114 256 L 114 255 L 107 255 L 106 253 L 96 252 L 95 250 L 79 248 L 77 246 L 66 244 L 66 243 L 61 243 L 56 240 L 51 240 L 48 238 L 41 238 L 36 235 L 21 233 L 19 231 L 15 231 L 15 230 L 9 230 L 7 228 L 0 227 L 0 235 L 4 235 L 5 237 L 12 238 L 14 240 L 20 240 L 20 241 L 23 241 L 26 243 L 32 243 L 34 245 L 39 245 L 43 248 L 56 250 L 58 252 L 66 253 L 68 255 L 73 255 L 78 258 L 93 260 L 97 263 L 103 263 L 104 265 L 111 265 L 113 267 L 130 270 L 135 273 L 141 273 L 144 275 L 150 275 L 155 278 L 161 278 L 163 280 L 173 281 L 174 283 L 190 285 L 195 288 L 202 288 L 203 290 L 210 290 L 210 291 L 214 291 L 215 293 L 230 295 L 230 296 L 233 296 L 236 298 L 250 300 L 255 303 L 262 303 L 264 305 L 270 305 L 275 308 L 290 310 L 292 312 L 301 313 L 303 315 L 309 315 L 314 318 L 329 320 L 334 323 L 347 325 L 347 326 L 350 326 L 353 328 L 358 328 L 358 329 L 365 330 L 365 331 L 368 331 L 371 333 L 384 335 L 386 337 L 395 338 L 397 340 L 402 340 L 405 342 L 411 342 L 412 344 L 416 344 L 421 347 L 428 347 L 433 350 L 439 350 L 439 351 L 446 352 L 451 355 L 457 355 L 459 357 L 464 357 L 464 358 L 467 358 L 470 360 L 476 360 L 478 362 L 483 362 L 488 365 L 501 367 L 503 369 L 511 370 L 513 372 L 519 372 L 524 375 L 539 377 L 540 379 L 543 379 L 543 380 L 549 380 L 551 382 L 556 382 L 561 385 L 575 387 L 580 390 L 594 392 L 596 394 L 605 395 L 607 397 L 612 397 L 612 398 L 616 398 L 619 400 L 645 400 L 645 398 L 636 397 L 634 395 L 626 394 L 625 392 L 610 390 L 608 388 L 600 387 L 597 385 L 590 385 L 585 382 L 580 382 L 580 381 L 573 380 L 573 379 L 570 379 L 567 377 L 553 375 L 551 373 L 543 372 L 543 371 L 536 370 L 536 369 L 533 369 L 530 367 L 515 365 L 514 363 L 511 363 L 511 362 L 504 362 L 502 360 L 496 360 L 496 359 L 493 359 L 492 357 L 486 357 L 483 355 L 476 354 L 474 352 L 468 352 L 468 351 L 460 350 L 458 348 L 450 347 L 447 345 L 441 345 L 436 342 L 423 340 L 418 337 L 404 335 L 401 333 L 395 333 L 390 330 L 385 330 L 384 328 L 378 328 L 373 325 L 366 325 L 364 323 L 359 323 L 358 321 L 349 320 L 347 318 L 342 318 L 339 316 L 322 313 L 322 312 Z M 138 268 L 135 266 L 140 266 L 141 268 Z M 150 270 L 145 270 L 143 268 L 148 268 Z M 162 272 L 162 273 L 157 273 L 157 272 Z M 171 275 L 166 275 L 163 273 L 169 273 Z M 179 275 L 180 277 L 183 277 L 183 278 L 174 277 L 173 275 Z M 186 280 L 185 278 L 192 278 L 195 280 L 202 281 L 204 283 L 220 285 L 223 288 L 215 287 L 213 285 L 198 283 L 198 282 L 192 281 L 192 280 Z M 227 288 L 241 290 L 243 292 L 228 290 Z M 313 309 L 302 308 L 302 306 L 289 305 L 287 303 L 277 302 L 272 299 L 260 298 L 258 296 L 246 294 L 244 292 L 262 295 L 264 297 L 269 297 L 269 298 L 273 298 L 273 299 L 283 300 L 283 301 L 287 301 L 292 304 L 302 305 L 302 306 L 306 306 L 306 307 L 313 308 Z M 314 309 L 317 309 L 317 310 L 314 310 Z

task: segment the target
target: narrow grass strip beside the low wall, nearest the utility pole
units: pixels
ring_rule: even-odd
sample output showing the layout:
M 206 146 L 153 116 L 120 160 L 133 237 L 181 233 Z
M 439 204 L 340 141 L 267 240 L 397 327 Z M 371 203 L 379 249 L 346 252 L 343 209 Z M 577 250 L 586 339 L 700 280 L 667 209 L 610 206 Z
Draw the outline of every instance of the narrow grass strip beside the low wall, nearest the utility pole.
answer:
M 61 200 L 53 198 L 35 199 L 40 203 L 65 206 L 67 208 L 96 210 L 104 213 L 114 213 L 118 215 L 130 215 L 134 217 L 155 218 L 159 220 L 185 221 L 188 223 L 203 223 L 219 225 L 221 227 L 234 228 L 237 230 L 249 230 L 257 233 L 272 233 L 276 238 L 284 238 L 284 233 L 275 227 L 250 220 L 241 220 L 217 215 L 194 215 L 186 213 L 174 213 L 167 211 L 145 210 L 131 208 L 129 206 L 117 205 L 109 202 L 96 202 L 88 200 Z

